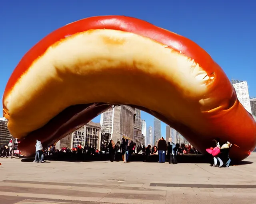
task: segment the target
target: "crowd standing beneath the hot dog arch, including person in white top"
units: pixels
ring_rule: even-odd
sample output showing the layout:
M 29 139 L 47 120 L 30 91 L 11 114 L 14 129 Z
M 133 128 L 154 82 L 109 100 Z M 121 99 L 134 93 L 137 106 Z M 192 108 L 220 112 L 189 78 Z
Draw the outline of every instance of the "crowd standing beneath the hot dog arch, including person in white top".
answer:
M 120 155 L 125 163 L 131 161 L 132 155 L 144 155 L 145 162 L 150 161 L 150 155 L 159 155 L 159 163 L 164 163 L 166 160 L 168 160 L 169 163 L 175 164 L 177 163 L 177 155 L 199 153 L 197 149 L 191 145 L 174 144 L 170 139 L 168 143 L 166 143 L 163 137 L 158 141 L 157 145 L 148 145 L 147 147 L 144 145 L 136 145 L 134 141 L 129 141 L 127 138 L 122 138 L 121 141 L 118 139 L 116 143 L 111 139 L 109 142 L 104 141 L 102 143 L 102 148 L 100 151 L 96 149 L 96 147 L 92 146 L 92 144 L 84 147 L 82 143 L 74 146 L 72 149 L 62 147 L 62 149 L 58 150 L 54 144 L 43 149 L 42 143 L 37 140 L 35 146 L 36 155 L 34 162 L 42 163 L 44 162 L 44 158 L 51 156 L 66 156 L 83 160 L 88 158 L 96 159 L 96 157 L 102 157 L 103 154 L 105 154 L 105 156 L 108 154 L 109 160 L 112 162 L 119 160 Z

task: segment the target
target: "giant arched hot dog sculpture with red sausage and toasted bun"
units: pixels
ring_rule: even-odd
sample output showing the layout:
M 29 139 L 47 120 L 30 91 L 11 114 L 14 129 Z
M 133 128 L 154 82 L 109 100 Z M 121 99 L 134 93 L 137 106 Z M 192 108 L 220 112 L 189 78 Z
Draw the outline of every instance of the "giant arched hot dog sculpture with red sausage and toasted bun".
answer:
M 36 139 L 54 143 L 112 104 L 169 124 L 201 152 L 212 139 L 236 144 L 242 160 L 256 145 L 256 123 L 224 71 L 193 41 L 126 16 L 68 24 L 20 61 L 3 97 L 10 133 L 24 155 Z

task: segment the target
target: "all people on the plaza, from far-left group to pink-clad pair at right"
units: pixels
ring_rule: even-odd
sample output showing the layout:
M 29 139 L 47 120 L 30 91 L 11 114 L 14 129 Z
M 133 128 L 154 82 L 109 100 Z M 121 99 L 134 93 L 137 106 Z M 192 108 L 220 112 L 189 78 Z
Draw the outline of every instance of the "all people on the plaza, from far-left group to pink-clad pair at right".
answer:
M 214 139 L 216 147 L 210 147 L 206 149 L 213 157 L 212 167 L 229 167 L 230 158 L 229 151 L 232 146 L 230 142 L 223 143 L 220 145 L 219 139 Z M 13 157 L 14 152 L 18 151 L 18 141 L 10 140 L 6 143 L 0 151 L 1 157 Z M 130 161 L 132 155 L 144 155 L 144 161 L 149 162 L 151 155 L 158 155 L 158 162 L 165 163 L 169 161 L 170 164 L 176 164 L 177 156 L 184 154 L 200 154 L 200 152 L 190 144 L 175 144 L 172 142 L 172 139 L 169 138 L 169 141 L 162 137 L 157 145 L 151 146 L 148 145 L 136 145 L 134 141 L 129 141 L 127 138 L 122 138 L 120 141 L 115 143 L 112 139 L 107 143 L 104 141 L 102 143 L 101 151 L 92 146 L 92 144 L 86 145 L 85 147 L 80 143 L 79 145 L 69 149 L 63 147 L 62 149 L 56 149 L 56 145 L 52 144 L 46 148 L 43 148 L 41 141 L 36 140 L 35 145 L 35 159 L 34 162 L 44 163 L 45 157 L 50 157 L 52 155 L 61 155 L 61 156 L 74 156 L 77 159 L 84 159 L 85 157 L 100 157 L 102 154 L 108 154 L 110 161 L 116 161 L 116 155 L 122 155 L 122 160 L 126 163 Z

